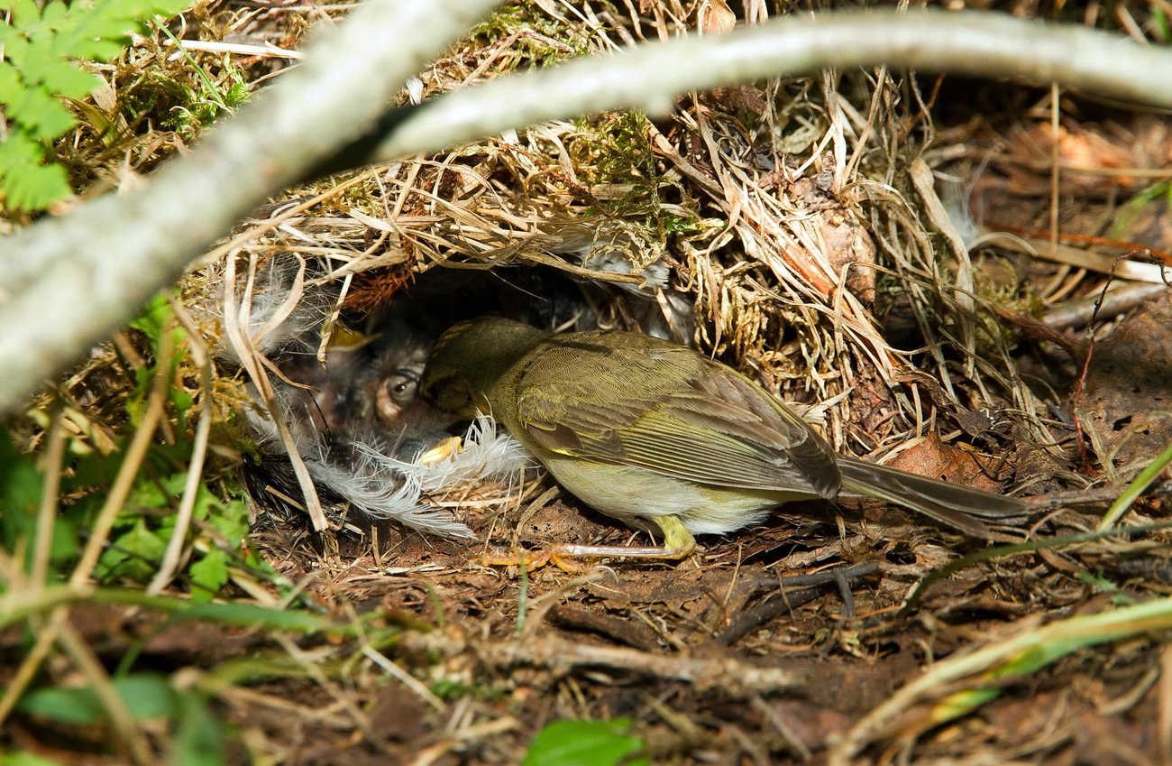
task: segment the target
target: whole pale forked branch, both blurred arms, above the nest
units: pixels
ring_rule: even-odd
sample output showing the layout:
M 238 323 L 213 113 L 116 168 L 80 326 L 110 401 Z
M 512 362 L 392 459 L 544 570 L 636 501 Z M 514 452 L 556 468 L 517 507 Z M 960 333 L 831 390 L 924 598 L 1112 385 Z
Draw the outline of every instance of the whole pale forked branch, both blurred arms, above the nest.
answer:
M 339 147 L 366 145 L 380 106 L 492 5 L 375 0 L 312 49 L 302 70 L 211 131 L 146 189 L 98 199 L 0 242 L 0 411 L 124 323 L 266 196 L 311 169 L 336 167 Z M 994 13 L 826 13 L 650 43 L 458 90 L 400 110 L 374 156 L 350 161 L 437 150 L 608 109 L 667 114 L 675 94 L 690 89 L 877 65 L 1056 82 L 1172 108 L 1167 48 Z

